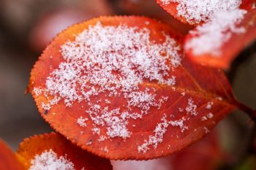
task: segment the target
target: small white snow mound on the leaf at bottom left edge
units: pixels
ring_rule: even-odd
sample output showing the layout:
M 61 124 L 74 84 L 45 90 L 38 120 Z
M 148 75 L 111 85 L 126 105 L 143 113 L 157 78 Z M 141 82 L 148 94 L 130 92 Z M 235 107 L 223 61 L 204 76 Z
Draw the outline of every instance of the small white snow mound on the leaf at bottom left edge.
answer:
M 35 155 L 29 170 L 75 170 L 75 167 L 66 157 L 58 158 L 53 150 L 45 150 L 40 155 Z

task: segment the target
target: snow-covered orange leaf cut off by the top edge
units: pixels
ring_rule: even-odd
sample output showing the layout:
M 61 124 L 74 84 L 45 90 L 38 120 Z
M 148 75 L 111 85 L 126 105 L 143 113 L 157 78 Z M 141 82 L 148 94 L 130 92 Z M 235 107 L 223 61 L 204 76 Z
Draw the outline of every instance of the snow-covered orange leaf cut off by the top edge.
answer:
M 156 0 L 160 7 L 165 9 L 170 15 L 181 20 L 183 23 L 197 25 L 205 23 L 211 14 L 220 9 L 234 9 L 239 5 L 238 1 L 214 1 L 209 4 L 208 1 L 189 1 L 189 0 Z M 207 2 L 207 4 L 206 4 Z M 222 2 L 222 3 L 220 3 Z M 223 4 L 226 3 L 226 4 Z M 253 0 L 242 0 L 241 9 L 252 9 L 255 2 Z M 207 9 L 206 9 L 207 8 Z

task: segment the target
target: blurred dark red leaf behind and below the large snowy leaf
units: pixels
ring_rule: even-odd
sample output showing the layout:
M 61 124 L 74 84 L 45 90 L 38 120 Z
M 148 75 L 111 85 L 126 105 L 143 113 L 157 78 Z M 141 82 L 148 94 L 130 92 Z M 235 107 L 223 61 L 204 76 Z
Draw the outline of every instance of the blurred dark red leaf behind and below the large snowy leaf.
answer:
M 174 155 L 150 161 L 111 161 L 113 170 L 217 170 L 225 154 L 218 131 Z

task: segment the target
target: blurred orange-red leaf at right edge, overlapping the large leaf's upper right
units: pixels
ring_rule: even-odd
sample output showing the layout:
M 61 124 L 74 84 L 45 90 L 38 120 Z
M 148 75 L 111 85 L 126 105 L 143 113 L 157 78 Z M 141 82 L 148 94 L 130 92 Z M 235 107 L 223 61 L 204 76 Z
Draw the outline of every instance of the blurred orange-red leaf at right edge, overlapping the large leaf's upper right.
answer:
M 231 62 L 238 54 L 256 39 L 256 10 L 253 9 L 247 12 L 241 21 L 236 23 L 236 30 L 242 31 L 232 31 L 230 28 L 226 30 L 219 29 L 219 31 L 217 28 L 211 31 L 213 30 L 211 29 L 213 28 L 212 26 L 218 25 L 216 21 L 217 20 L 214 20 L 211 23 L 199 26 L 199 28 L 195 28 L 195 31 L 187 35 L 185 40 L 185 53 L 197 63 L 228 69 Z M 223 18 L 222 23 L 227 23 L 225 18 Z M 211 30 L 206 31 L 208 28 Z M 202 34 L 202 31 L 198 30 L 205 31 Z M 209 36 L 212 35 L 211 32 L 215 34 L 215 36 Z M 216 36 L 219 34 L 221 34 L 221 36 Z M 218 47 L 216 47 L 217 45 Z M 219 52 L 216 53 L 217 51 Z

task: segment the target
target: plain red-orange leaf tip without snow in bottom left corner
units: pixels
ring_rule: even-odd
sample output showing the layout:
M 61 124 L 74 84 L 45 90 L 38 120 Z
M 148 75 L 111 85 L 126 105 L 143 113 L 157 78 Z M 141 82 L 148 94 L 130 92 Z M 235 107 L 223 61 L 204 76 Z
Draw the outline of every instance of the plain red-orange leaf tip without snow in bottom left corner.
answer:
M 0 140 L 0 169 L 24 170 L 12 150 Z

